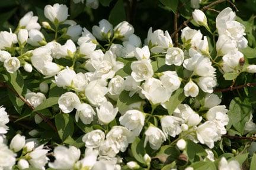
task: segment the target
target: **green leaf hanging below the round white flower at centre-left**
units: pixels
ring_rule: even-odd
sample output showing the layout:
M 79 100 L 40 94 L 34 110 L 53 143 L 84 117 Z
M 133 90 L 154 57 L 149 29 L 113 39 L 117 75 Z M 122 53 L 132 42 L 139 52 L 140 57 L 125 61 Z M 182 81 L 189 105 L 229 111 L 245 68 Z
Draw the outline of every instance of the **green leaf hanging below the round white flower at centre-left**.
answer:
M 63 141 L 73 135 L 73 117 L 67 113 L 60 113 L 55 116 L 55 125 L 60 139 Z

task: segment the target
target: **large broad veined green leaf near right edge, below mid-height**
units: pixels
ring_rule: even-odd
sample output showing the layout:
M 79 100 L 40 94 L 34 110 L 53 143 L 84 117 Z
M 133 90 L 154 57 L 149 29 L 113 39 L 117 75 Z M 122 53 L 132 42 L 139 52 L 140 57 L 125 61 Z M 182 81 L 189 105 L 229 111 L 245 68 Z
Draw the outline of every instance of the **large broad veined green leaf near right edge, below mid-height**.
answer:
M 241 134 L 244 134 L 245 123 L 248 122 L 251 114 L 251 103 L 248 98 L 244 100 L 235 97 L 229 105 L 229 121 L 233 127 Z

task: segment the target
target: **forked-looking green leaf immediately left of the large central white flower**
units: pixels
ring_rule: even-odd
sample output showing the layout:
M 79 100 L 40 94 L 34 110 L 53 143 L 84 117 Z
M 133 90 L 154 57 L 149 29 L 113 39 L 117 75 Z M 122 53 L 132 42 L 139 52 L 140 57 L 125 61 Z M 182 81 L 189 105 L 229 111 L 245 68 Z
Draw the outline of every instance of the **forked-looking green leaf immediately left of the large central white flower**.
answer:
M 140 102 L 142 99 L 138 94 L 134 94 L 132 97 L 129 96 L 129 91 L 123 90 L 117 100 L 117 107 L 119 111 L 126 111 L 130 104 Z

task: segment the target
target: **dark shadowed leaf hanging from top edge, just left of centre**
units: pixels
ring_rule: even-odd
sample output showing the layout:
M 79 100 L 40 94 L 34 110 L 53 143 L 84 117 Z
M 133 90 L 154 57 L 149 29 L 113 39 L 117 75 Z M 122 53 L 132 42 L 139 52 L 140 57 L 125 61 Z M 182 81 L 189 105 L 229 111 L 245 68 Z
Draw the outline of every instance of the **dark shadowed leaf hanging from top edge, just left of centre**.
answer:
M 124 10 L 123 0 L 119 0 L 116 2 L 116 5 L 114 5 L 113 9 L 110 11 L 108 21 L 110 21 L 110 23 L 113 25 L 117 25 L 125 19 L 126 13 Z

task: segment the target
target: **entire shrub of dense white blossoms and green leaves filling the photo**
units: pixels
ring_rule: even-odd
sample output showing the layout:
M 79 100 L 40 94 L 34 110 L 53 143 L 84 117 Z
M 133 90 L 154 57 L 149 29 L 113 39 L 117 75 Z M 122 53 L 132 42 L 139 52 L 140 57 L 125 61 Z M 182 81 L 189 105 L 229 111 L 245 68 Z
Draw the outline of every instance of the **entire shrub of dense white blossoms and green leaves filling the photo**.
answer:
M 145 40 L 127 21 L 82 28 L 63 4 L 1 31 L 0 169 L 256 169 L 256 50 L 227 4 L 208 21 L 223 2 L 191 1 Z M 161 3 L 177 20 L 183 1 Z

